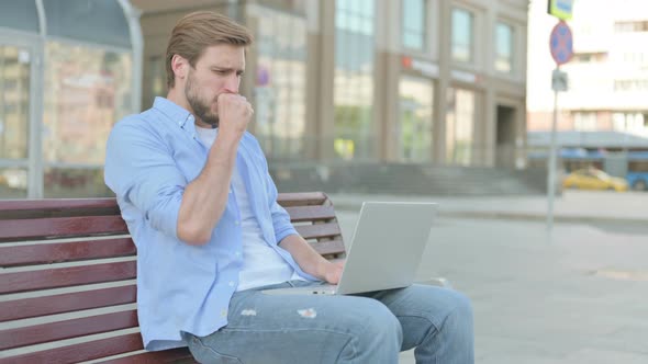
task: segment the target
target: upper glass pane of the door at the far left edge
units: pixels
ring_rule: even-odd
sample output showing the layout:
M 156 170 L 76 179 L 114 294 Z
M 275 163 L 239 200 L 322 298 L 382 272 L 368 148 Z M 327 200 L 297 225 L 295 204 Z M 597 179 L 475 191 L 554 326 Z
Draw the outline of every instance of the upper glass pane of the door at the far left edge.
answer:
M 30 52 L 0 45 L 0 160 L 27 158 Z

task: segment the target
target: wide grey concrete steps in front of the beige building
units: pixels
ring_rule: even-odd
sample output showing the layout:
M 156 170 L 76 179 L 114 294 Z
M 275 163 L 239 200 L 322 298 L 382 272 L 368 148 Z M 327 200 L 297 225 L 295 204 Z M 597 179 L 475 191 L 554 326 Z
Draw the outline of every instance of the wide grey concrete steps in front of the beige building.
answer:
M 279 164 L 270 173 L 279 191 L 331 193 L 528 195 L 544 193 L 546 184 L 544 171 L 431 164 Z

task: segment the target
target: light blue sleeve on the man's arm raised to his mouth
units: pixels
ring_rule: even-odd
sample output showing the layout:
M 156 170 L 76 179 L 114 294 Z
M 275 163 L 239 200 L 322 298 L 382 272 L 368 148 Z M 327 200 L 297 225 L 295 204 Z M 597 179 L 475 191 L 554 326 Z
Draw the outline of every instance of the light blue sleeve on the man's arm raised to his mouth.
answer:
M 133 116 L 115 125 L 108 139 L 105 184 L 139 209 L 150 226 L 177 238 L 187 180 L 172 151 L 144 121 Z

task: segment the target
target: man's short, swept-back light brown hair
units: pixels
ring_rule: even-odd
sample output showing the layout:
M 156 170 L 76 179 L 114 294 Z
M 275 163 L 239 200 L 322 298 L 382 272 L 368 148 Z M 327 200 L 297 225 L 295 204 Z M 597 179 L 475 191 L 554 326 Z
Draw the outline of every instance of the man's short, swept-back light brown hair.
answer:
M 252 42 L 249 31 L 225 15 L 211 11 L 197 11 L 185 15 L 174 27 L 167 46 L 167 87 L 170 89 L 176 84 L 171 68 L 174 55 L 181 56 L 189 60 L 191 67 L 195 67 L 204 49 L 210 46 L 231 44 L 245 47 Z

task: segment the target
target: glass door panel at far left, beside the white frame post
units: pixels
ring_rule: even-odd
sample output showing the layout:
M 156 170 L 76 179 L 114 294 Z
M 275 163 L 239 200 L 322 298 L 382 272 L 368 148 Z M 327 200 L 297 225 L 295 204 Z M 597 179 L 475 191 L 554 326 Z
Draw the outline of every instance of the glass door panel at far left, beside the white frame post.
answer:
M 33 44 L 0 37 L 0 198 L 38 197 Z

